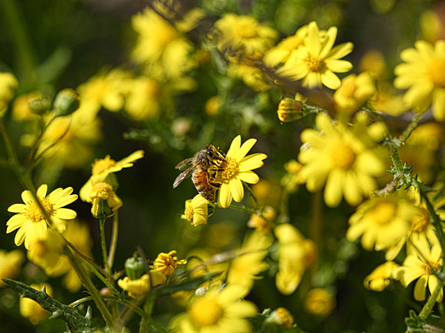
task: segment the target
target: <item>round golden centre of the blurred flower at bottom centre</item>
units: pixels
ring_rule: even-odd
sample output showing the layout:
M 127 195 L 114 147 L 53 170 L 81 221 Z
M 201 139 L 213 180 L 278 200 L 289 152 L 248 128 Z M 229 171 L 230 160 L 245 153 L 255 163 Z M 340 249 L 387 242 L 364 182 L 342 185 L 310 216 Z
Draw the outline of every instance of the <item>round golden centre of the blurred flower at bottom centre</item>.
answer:
M 213 297 L 202 296 L 188 308 L 188 313 L 197 326 L 205 327 L 217 323 L 223 316 L 223 309 Z

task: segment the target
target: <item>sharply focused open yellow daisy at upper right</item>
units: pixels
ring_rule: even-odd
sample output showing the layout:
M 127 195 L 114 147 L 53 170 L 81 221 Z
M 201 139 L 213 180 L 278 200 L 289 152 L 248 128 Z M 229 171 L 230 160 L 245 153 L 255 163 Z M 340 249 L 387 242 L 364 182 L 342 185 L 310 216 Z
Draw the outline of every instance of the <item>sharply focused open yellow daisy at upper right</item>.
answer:
M 305 44 L 291 51 L 277 73 L 294 80 L 304 78 L 302 85 L 305 87 L 321 87 L 323 84 L 330 89 L 337 89 L 341 81 L 334 72 L 344 73 L 353 68 L 350 62 L 340 60 L 353 51 L 353 44 L 348 42 L 332 49 L 336 38 L 336 27 L 329 28 L 322 38 L 316 22 L 309 23 Z

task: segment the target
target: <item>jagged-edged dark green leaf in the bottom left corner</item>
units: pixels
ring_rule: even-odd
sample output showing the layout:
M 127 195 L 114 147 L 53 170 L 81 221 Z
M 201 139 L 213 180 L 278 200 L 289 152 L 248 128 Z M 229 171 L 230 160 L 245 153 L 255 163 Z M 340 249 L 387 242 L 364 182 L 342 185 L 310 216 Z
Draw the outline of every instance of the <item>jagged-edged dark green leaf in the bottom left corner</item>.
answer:
M 23 297 L 31 298 L 38 302 L 41 307 L 52 313 L 51 318 L 59 318 L 70 326 L 71 332 L 92 333 L 99 330 L 88 318 L 79 314 L 78 311 L 51 298 L 44 289 L 35 290 L 28 285 L 10 279 L 1 279 L 15 291 L 22 293 Z

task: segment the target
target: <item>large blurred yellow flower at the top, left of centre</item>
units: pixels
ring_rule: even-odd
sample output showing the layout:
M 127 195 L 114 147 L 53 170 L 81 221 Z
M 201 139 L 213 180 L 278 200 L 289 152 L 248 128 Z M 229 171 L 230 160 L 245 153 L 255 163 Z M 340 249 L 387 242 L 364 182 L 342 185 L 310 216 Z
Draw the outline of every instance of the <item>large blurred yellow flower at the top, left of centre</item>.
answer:
M 131 26 L 138 33 L 133 57 L 156 73 L 156 78 L 178 78 L 196 65 L 189 55 L 191 42 L 152 9 L 145 8 L 134 15 Z

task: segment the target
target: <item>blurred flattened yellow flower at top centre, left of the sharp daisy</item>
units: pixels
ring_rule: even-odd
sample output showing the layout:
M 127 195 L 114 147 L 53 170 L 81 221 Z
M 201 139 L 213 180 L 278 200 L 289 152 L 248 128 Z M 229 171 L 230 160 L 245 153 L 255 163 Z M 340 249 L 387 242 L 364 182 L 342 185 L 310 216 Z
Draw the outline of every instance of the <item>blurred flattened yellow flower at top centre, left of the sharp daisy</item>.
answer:
M 229 54 L 242 51 L 248 55 L 264 53 L 278 37 L 273 28 L 259 24 L 257 19 L 232 13 L 218 19 L 209 35 L 216 40 L 218 50 Z

